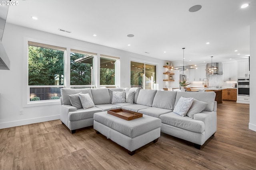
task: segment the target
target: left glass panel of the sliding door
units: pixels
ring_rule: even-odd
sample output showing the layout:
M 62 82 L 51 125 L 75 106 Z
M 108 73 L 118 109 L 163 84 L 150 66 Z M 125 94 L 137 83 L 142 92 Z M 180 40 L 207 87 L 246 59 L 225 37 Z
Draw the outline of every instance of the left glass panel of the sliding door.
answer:
M 131 87 L 143 87 L 144 63 L 131 61 Z

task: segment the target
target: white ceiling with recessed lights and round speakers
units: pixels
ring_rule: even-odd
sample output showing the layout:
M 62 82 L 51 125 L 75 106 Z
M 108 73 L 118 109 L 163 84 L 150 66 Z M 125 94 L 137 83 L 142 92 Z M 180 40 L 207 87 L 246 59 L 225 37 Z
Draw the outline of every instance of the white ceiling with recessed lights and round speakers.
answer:
M 185 47 L 185 61 L 190 64 L 210 63 L 210 56 L 214 56 L 215 63 L 249 55 L 250 23 L 256 21 L 256 0 L 21 0 L 18 3 L 9 7 L 8 23 L 167 61 L 182 60 Z M 250 6 L 241 9 L 244 3 Z M 194 5 L 201 5 L 201 10 L 189 12 Z M 38 20 L 32 20 L 31 16 Z M 59 28 L 72 33 L 58 31 Z M 128 34 L 134 37 L 127 37 Z

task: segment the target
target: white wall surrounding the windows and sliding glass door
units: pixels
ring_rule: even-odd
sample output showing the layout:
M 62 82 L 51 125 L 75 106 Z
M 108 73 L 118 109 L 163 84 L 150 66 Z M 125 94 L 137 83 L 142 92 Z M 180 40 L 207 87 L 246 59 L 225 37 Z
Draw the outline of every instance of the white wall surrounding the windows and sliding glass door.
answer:
M 11 66 L 10 70 L 0 70 L 0 129 L 49 121 L 60 117 L 59 104 L 36 107 L 24 107 L 23 105 L 26 100 L 23 92 L 26 90 L 24 84 L 26 84 L 27 74 L 26 66 L 23 64 L 27 57 L 24 54 L 24 39 L 35 39 L 48 42 L 50 45 L 120 57 L 120 87 L 123 88 L 130 87 L 131 59 L 156 63 L 156 81 L 159 84 L 159 89 L 162 89 L 162 66 L 164 64 L 162 60 L 6 23 L 2 42 Z M 20 115 L 20 110 L 23 110 L 23 115 Z

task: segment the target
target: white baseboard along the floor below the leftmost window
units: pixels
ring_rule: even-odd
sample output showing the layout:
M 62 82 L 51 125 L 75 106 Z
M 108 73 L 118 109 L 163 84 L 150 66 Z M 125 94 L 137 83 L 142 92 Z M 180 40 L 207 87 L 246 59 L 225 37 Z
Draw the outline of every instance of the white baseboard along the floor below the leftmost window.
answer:
M 8 128 L 8 127 L 16 127 L 16 126 L 22 126 L 22 125 L 29 125 L 32 123 L 40 123 L 44 121 L 51 121 L 51 120 L 57 120 L 60 119 L 60 115 L 52 115 L 52 116 L 46 116 L 46 117 L 36 117 L 32 119 L 24 119 L 24 120 L 18 120 L 18 121 L 9 121 L 0 123 L 0 129 Z

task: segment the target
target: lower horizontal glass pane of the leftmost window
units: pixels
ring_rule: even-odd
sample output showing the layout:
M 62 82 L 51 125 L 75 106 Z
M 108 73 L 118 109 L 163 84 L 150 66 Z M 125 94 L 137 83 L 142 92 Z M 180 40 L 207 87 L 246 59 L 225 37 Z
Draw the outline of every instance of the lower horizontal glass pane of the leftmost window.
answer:
M 57 87 L 31 87 L 30 101 L 60 99 L 60 89 Z

